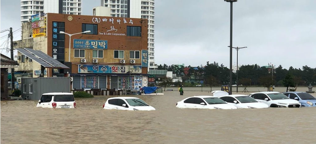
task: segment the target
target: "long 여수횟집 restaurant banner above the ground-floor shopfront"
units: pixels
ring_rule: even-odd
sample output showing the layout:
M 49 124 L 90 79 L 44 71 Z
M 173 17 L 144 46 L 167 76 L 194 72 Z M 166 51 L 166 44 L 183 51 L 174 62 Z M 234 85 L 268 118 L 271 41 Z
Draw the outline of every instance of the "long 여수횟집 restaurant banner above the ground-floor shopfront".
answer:
M 78 65 L 78 73 L 140 74 L 140 65 Z

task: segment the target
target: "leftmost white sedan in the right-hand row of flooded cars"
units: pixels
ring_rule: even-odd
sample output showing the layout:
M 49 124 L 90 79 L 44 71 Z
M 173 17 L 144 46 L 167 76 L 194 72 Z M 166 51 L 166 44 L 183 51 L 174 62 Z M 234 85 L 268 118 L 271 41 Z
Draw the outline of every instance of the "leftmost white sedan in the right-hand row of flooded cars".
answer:
M 177 102 L 178 108 L 197 109 L 237 109 L 236 106 L 229 105 L 222 99 L 213 96 L 193 96 Z

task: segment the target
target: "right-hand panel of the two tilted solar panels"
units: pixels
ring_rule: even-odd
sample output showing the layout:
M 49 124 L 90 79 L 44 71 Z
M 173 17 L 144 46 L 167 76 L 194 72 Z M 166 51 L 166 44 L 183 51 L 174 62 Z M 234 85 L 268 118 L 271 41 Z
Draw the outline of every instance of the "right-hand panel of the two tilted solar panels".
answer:
M 57 61 L 56 59 L 50 57 L 49 55 L 45 54 L 42 51 L 38 51 L 38 50 L 33 50 L 33 49 L 29 49 L 29 48 L 24 48 L 27 51 L 30 51 L 31 53 L 33 53 L 34 55 L 40 57 L 41 59 L 43 59 L 45 62 L 52 64 L 54 67 L 58 67 L 60 69 L 69 69 L 67 66 L 65 66 L 64 64 L 60 63 L 59 61 Z

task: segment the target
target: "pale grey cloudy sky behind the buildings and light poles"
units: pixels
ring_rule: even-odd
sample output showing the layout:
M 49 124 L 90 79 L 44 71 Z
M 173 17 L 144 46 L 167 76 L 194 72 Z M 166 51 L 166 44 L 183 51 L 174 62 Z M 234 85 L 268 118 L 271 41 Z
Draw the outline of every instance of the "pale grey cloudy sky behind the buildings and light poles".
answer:
M 197 3 L 198 2 L 198 3 Z M 229 67 L 229 9 L 224 0 L 156 0 L 155 61 L 197 66 L 207 61 Z M 1 31 L 20 28 L 20 0 L 1 0 Z M 100 0 L 82 0 L 82 14 L 92 15 Z M 272 63 L 316 68 L 316 1 L 239 0 L 233 8 L 233 46 L 239 64 Z M 1 33 L 1 53 L 6 54 Z M 20 39 L 20 31 L 14 40 Z M 2 45 L 3 44 L 3 45 Z M 236 51 L 233 50 L 233 64 Z

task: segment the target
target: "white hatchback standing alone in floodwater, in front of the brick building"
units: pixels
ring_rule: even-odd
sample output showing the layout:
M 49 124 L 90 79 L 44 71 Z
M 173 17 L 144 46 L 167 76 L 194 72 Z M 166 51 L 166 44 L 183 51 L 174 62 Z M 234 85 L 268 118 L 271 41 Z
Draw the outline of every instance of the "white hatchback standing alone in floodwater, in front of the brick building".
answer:
M 104 109 L 130 110 L 130 111 L 151 111 L 154 107 L 145 103 L 142 99 L 135 97 L 114 97 L 108 98 L 103 105 Z

